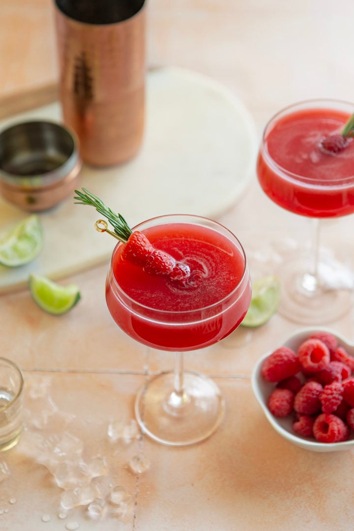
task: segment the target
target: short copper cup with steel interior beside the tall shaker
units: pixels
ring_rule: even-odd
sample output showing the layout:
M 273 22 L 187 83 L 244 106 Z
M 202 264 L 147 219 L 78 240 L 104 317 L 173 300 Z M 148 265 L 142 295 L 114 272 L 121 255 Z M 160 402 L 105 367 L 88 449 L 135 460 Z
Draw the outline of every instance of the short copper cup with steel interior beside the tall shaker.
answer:
M 0 192 L 25 210 L 47 210 L 65 199 L 81 166 L 76 134 L 62 125 L 23 122 L 0 133 Z

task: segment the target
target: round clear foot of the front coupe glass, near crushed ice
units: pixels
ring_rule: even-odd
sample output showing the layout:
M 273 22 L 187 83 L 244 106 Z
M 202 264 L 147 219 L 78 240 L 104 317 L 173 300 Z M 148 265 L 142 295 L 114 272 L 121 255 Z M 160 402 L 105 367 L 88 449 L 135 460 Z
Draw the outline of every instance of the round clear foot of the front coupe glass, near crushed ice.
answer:
M 185 372 L 184 392 L 174 389 L 174 373 L 154 376 L 135 400 L 143 433 L 162 444 L 187 446 L 208 438 L 219 426 L 225 402 L 220 390 L 203 374 Z

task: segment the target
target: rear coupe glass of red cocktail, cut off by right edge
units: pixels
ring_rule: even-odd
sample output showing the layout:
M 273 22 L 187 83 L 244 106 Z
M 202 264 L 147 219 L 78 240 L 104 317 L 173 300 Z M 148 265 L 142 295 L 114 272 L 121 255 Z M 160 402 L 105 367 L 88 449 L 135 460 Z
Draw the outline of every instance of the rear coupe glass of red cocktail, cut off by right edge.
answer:
M 354 212 L 354 140 L 346 136 L 339 147 L 334 141 L 343 140 L 353 112 L 349 102 L 303 101 L 281 110 L 263 133 L 257 160 L 263 191 L 280 207 L 313 218 L 311 253 L 284 262 L 278 272 L 279 312 L 296 322 L 329 322 L 352 304 L 350 275 L 343 284 L 348 270 L 319 254 L 319 228 L 321 218 Z

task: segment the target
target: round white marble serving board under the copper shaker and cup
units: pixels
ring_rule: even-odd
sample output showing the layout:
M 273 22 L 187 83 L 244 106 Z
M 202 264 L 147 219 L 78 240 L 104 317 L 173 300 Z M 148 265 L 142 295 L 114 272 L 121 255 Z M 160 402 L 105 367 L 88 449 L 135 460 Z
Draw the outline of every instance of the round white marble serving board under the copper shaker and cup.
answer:
M 210 78 L 164 67 L 147 75 L 146 127 L 133 160 L 110 168 L 85 166 L 81 186 L 121 212 L 129 225 L 167 213 L 215 218 L 244 192 L 254 174 L 257 138 L 243 103 Z M 61 122 L 61 106 L 7 117 L 0 129 L 27 119 Z M 0 198 L 0 237 L 28 213 Z M 0 293 L 27 284 L 30 272 L 57 280 L 109 260 L 115 241 L 94 230 L 100 217 L 68 198 L 40 213 L 45 244 L 30 264 L 0 266 Z

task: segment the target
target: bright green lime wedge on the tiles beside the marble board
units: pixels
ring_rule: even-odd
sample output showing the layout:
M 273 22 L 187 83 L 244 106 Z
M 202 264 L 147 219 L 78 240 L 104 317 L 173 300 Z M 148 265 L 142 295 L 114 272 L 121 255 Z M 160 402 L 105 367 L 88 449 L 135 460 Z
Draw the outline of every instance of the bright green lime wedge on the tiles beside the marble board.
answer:
M 39 275 L 30 275 L 29 288 L 38 306 L 53 315 L 62 315 L 68 312 L 80 299 L 79 288 L 74 284 L 60 286 L 53 280 Z

